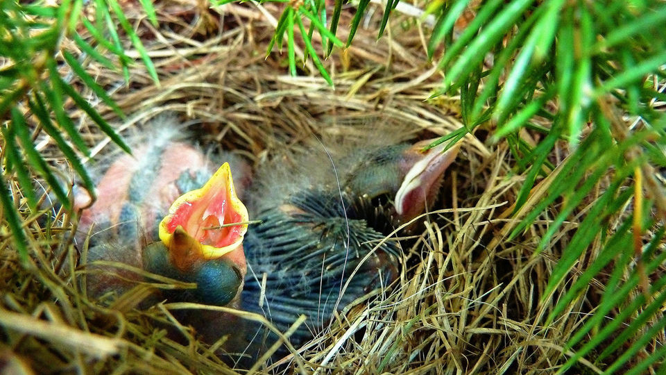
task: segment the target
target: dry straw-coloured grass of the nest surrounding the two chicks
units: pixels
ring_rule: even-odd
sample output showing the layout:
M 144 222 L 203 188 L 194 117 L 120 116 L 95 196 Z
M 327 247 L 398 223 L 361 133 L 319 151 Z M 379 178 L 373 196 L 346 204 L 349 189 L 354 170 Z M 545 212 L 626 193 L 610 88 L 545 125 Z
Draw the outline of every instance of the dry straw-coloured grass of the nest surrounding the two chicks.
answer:
M 396 15 L 386 37 L 376 42 L 381 10 L 368 13 L 353 46 L 325 62 L 334 76 L 333 90 L 318 74 L 309 74 L 315 72 L 311 63 L 293 78 L 284 75 L 286 53 L 273 51 L 264 60 L 280 6 L 232 4 L 217 13 L 203 1 L 164 1 L 156 5 L 159 29 L 139 18 L 136 3 L 123 6 L 148 47 L 161 86 L 139 64 L 129 86 L 119 72 L 95 63 L 89 72 L 130 115 L 122 122 L 100 107 L 128 138 L 160 113 L 176 113 L 183 121 L 196 122 L 193 142 L 233 150 L 256 167 L 278 151 L 304 147 L 314 135 L 355 136 L 373 122 L 402 126 L 412 138 L 432 138 L 461 126 L 456 98 L 424 102 L 441 77 L 427 63 L 420 26 L 407 17 Z M 342 24 L 350 17 L 343 12 Z M 74 49 L 73 44 L 67 47 Z M 138 59 L 132 50 L 128 54 Z M 118 155 L 80 110 L 71 105 L 69 110 L 80 121 L 95 160 Z M 459 159 L 447 172 L 443 198 L 420 218 L 422 231 L 404 240 L 409 247 L 404 248 L 406 267 L 398 285 L 345 308 L 330 331 L 306 344 L 298 356 L 257 363 L 253 369 L 510 374 L 556 365 L 567 332 L 580 321 L 574 316 L 547 329 L 539 326 L 549 310 L 538 303 L 540 292 L 557 249 L 531 257 L 545 221 L 513 242 L 503 240 L 513 227 L 506 218 L 521 178 L 511 174 L 506 144 L 490 147 L 483 143 L 484 133 L 463 140 Z M 62 164 L 48 140 L 43 152 Z M 103 163 L 90 160 L 89 165 L 100 169 Z M 62 169 L 66 176 L 65 165 Z M 19 267 L 3 234 L 4 370 L 234 372 L 216 355 L 225 338 L 200 342 L 196 332 L 173 317 L 180 308 L 196 314 L 203 307 L 139 305 L 153 291 L 151 285 L 121 296 L 88 297 L 85 277 L 94 267 L 80 256 L 87 244 L 73 243 L 76 220 L 72 228 L 70 219 L 70 213 L 57 208 L 26 215 L 34 250 L 31 269 Z M 572 304 L 571 309 L 581 306 Z M 167 335 L 173 330 L 185 340 Z

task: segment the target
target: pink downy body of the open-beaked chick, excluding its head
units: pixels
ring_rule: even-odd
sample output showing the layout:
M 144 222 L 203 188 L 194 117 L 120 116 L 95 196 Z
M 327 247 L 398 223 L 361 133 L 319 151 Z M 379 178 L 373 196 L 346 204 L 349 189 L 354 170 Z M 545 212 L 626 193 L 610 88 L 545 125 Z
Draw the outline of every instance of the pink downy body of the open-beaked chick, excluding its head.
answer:
M 99 173 L 96 189 L 99 198 L 92 206 L 86 194 L 77 194 L 75 206 L 89 206 L 82 210 L 77 236 L 83 244 L 92 228 L 87 251 L 89 263 L 120 262 L 181 281 L 196 281 L 191 270 L 163 269 L 162 265 L 171 265 L 168 257 L 166 263 L 160 262 L 168 255 L 159 246 L 160 220 L 179 196 L 201 188 L 219 167 L 203 151 L 185 142 L 182 133 L 176 117 L 157 117 L 147 125 L 146 135 L 130 142 L 133 155 L 114 158 Z M 224 158 L 232 162 L 231 169 L 239 177 L 237 181 L 241 184 L 247 181 L 247 166 L 235 156 Z M 154 245 L 148 247 L 148 244 Z M 242 250 L 233 255 L 235 267 L 244 269 L 244 256 L 239 253 L 242 255 Z M 96 267 L 96 271 L 89 275 L 87 283 L 88 291 L 96 296 L 108 292 L 121 295 L 133 286 L 131 281 L 138 281 L 136 274 L 123 269 L 104 266 Z

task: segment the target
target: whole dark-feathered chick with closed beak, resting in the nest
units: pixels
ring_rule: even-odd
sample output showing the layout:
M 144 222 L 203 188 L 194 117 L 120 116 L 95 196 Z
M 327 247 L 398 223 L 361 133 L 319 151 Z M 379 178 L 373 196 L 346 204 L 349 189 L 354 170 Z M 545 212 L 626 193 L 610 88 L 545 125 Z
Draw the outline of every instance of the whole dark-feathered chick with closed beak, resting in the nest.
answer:
M 371 133 L 315 142 L 307 153 L 260 168 L 247 201 L 250 217 L 262 224 L 251 226 L 244 242 L 241 307 L 281 331 L 306 315 L 290 337 L 298 347 L 323 331 L 336 310 L 391 284 L 400 247 L 386 236 L 436 201 L 457 153 L 457 147 L 443 152 L 445 144 L 425 150 L 431 142 Z M 244 331 L 251 358 L 277 339 L 249 322 Z

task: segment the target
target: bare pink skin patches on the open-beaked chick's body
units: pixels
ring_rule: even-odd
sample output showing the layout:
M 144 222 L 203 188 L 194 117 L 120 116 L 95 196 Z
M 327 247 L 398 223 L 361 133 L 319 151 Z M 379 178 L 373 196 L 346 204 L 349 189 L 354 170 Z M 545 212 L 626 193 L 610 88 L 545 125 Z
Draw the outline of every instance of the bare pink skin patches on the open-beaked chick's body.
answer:
M 139 217 L 136 225 L 139 238 L 114 240 L 119 235 L 117 224 L 119 224 L 123 205 L 130 201 L 130 197 L 128 196 L 130 183 L 139 172 L 139 169 L 142 168 L 142 165 L 145 166 L 148 164 L 144 160 L 144 158 L 148 157 L 147 146 L 135 147 L 133 149 L 133 156 L 125 154 L 117 158 L 110 165 L 96 187 L 98 198 L 92 206 L 83 208 L 87 206 L 90 200 L 90 197 L 85 192 L 76 196 L 75 206 L 83 208 L 78 228 L 79 243 L 83 244 L 89 228 L 94 225 L 91 249 L 95 245 L 101 244 L 101 242 L 104 245 L 108 245 L 92 249 L 88 256 L 89 261 L 112 260 L 135 267 L 142 267 L 142 250 L 144 246 L 150 242 L 159 241 L 158 238 L 153 238 L 153 228 L 157 228 L 157 224 L 162 219 L 158 215 L 167 213 L 171 203 L 184 193 L 178 189 L 178 178 L 183 173 L 194 171 L 205 171 L 212 174 L 217 167 L 202 152 L 188 144 L 171 142 L 164 149 L 167 151 L 162 153 L 161 160 L 155 162 L 159 163 L 159 165 L 155 166 L 151 163 L 150 167 L 155 168 L 157 174 L 152 181 L 146 181 L 145 185 L 148 191 L 144 196 L 144 201 L 137 203 L 139 204 L 139 207 L 137 207 Z M 141 163 L 142 161 L 144 163 Z M 241 178 L 239 182 L 243 183 L 244 181 Z M 96 235 L 96 233 L 100 234 Z M 99 240 L 101 238 L 103 240 Z M 241 271 L 242 276 L 245 276 L 247 266 L 242 245 L 225 254 L 223 257 L 232 261 Z M 135 276 L 117 269 L 113 269 L 113 271 L 122 274 L 126 278 L 135 278 Z M 91 281 L 92 283 L 89 283 L 89 286 L 93 288 L 94 294 L 101 294 L 99 292 L 106 292 L 108 290 L 121 292 L 127 286 L 115 276 L 105 275 L 104 273 L 94 276 L 94 280 Z

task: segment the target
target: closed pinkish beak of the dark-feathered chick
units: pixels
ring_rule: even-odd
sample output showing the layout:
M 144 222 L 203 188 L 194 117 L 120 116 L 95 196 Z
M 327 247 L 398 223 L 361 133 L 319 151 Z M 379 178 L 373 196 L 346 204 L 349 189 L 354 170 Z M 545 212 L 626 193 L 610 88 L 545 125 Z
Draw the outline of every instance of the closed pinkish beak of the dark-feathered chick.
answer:
M 427 203 L 432 203 L 442 174 L 458 154 L 458 144 L 444 151 L 447 142 L 423 151 L 424 147 L 433 141 L 418 142 L 408 151 L 411 156 L 407 158 L 413 160 L 413 165 L 407 166 L 407 174 L 395 194 L 395 212 L 403 219 L 416 217 L 423 212 Z

